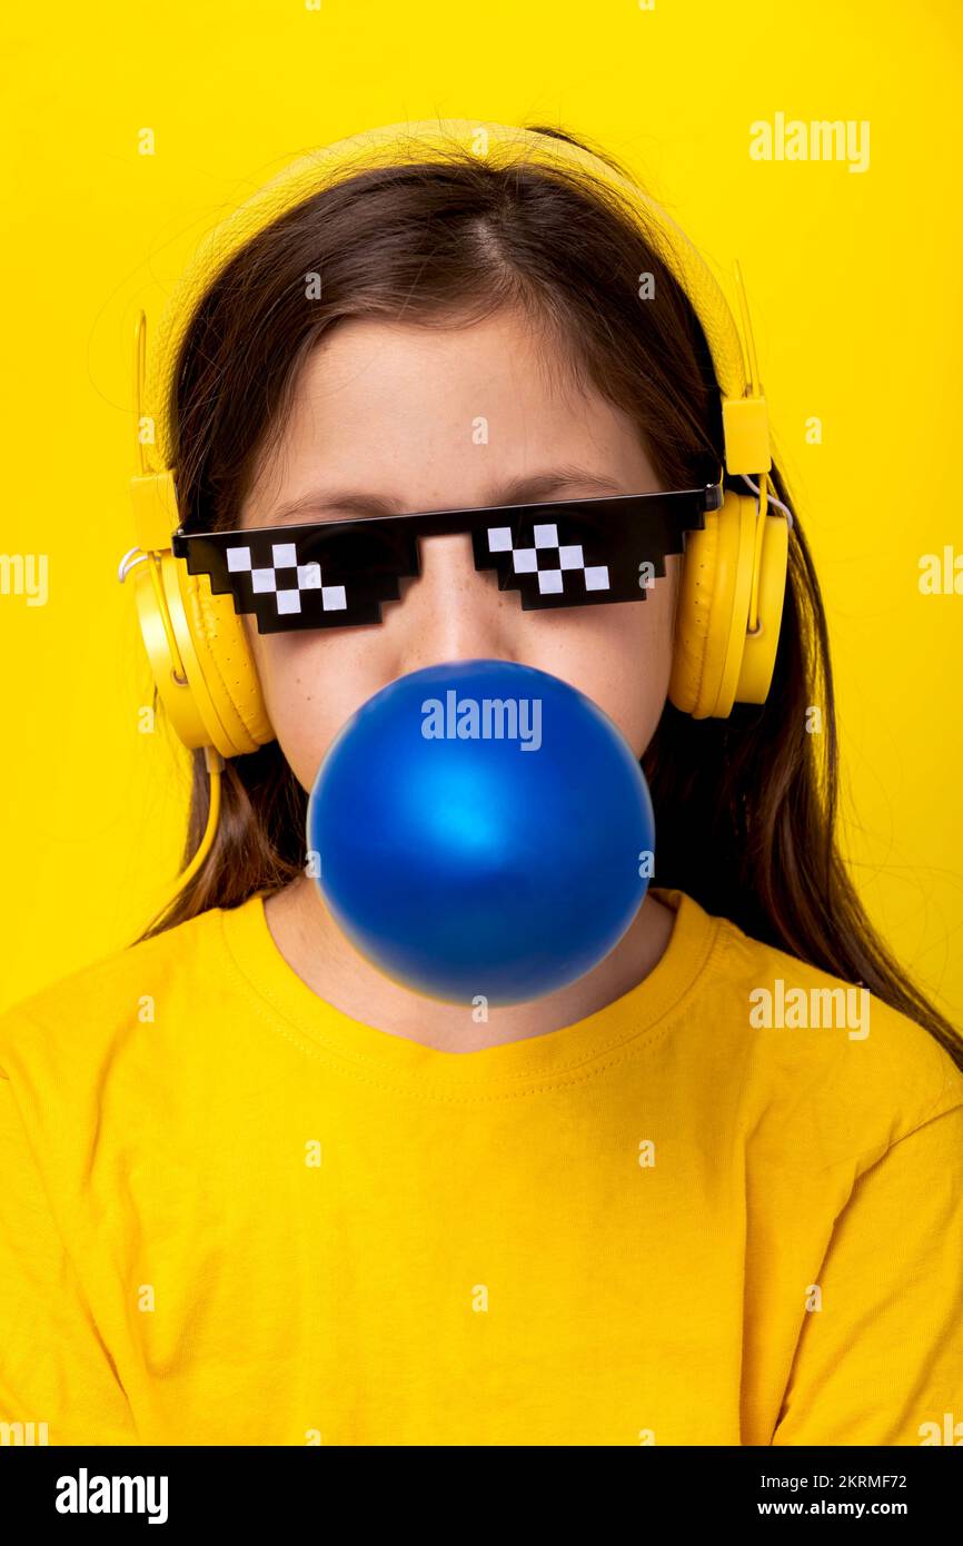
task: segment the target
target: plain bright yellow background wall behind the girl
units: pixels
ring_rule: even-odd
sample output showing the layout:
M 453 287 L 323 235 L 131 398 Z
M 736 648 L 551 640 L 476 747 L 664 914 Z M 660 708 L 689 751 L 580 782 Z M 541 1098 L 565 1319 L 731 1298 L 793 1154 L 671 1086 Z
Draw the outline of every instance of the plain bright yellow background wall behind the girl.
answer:
M 960 516 L 957 0 L 232 0 L 3 23 L 0 1006 L 127 943 L 175 880 L 187 753 L 141 734 L 131 335 L 202 232 L 294 156 L 434 116 L 558 124 L 742 263 L 774 448 L 815 549 L 859 890 L 963 1023 L 963 595 L 918 591 Z M 750 124 L 870 122 L 870 165 L 756 162 Z M 156 153 L 138 155 L 142 128 Z M 728 292 L 731 297 L 731 291 Z M 810 416 L 822 444 L 805 442 Z

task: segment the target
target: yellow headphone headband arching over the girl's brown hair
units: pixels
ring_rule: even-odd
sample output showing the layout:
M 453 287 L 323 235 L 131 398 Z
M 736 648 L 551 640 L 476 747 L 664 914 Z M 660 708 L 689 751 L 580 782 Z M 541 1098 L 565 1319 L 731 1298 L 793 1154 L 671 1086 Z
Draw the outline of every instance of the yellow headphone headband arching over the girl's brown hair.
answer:
M 476 147 L 482 147 L 481 150 Z M 297 204 L 323 187 L 362 172 L 405 162 L 445 162 L 453 153 L 484 155 L 496 167 L 533 162 L 547 170 L 587 173 L 620 195 L 640 227 L 686 292 L 706 337 L 722 391 L 725 467 L 731 475 L 770 470 L 765 397 L 756 379 L 754 346 L 742 275 L 736 283 L 745 329 L 747 357 L 725 295 L 705 258 L 675 221 L 606 161 L 535 130 L 475 119 L 437 119 L 390 124 L 365 130 L 300 156 L 264 184 L 207 233 L 175 284 L 156 334 L 148 343 L 145 400 L 138 416 L 153 419 L 155 444 L 144 444 L 144 472 L 164 473 L 173 465 L 172 402 L 175 368 L 193 314 L 241 247 Z M 748 374 L 747 379 L 747 363 Z

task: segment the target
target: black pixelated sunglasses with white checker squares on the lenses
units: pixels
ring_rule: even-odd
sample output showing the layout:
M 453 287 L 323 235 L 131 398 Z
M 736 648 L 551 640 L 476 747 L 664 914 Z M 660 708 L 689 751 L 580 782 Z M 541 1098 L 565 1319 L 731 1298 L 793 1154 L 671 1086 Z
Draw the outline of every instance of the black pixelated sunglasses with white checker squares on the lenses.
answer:
M 215 595 L 232 595 L 238 614 L 254 614 L 260 634 L 278 634 L 380 623 L 382 603 L 400 600 L 399 581 L 420 572 L 419 538 L 470 532 L 475 567 L 493 569 L 499 591 L 518 591 L 529 612 L 645 601 L 666 557 L 683 552 L 683 533 L 722 501 L 717 482 L 230 532 L 181 526 L 172 550 Z

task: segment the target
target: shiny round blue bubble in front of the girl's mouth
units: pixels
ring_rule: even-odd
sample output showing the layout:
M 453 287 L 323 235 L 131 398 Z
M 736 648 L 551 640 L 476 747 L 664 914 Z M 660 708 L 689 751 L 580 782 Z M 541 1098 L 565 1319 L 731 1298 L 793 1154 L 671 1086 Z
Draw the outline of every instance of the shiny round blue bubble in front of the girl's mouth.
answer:
M 308 802 L 317 884 L 416 993 L 522 1003 L 583 977 L 648 887 L 649 790 L 577 688 L 507 660 L 399 677 L 332 742 Z

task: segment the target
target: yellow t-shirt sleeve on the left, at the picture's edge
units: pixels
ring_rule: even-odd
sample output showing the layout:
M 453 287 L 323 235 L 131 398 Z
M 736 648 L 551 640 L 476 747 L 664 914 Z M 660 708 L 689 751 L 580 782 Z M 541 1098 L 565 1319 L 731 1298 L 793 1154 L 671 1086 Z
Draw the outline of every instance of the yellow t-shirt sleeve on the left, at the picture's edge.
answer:
M 138 1442 L 110 1351 L 57 1229 L 11 1079 L 2 1071 L 0 1442 Z

